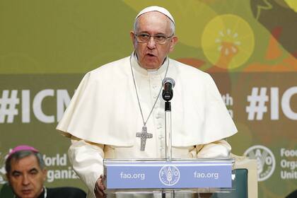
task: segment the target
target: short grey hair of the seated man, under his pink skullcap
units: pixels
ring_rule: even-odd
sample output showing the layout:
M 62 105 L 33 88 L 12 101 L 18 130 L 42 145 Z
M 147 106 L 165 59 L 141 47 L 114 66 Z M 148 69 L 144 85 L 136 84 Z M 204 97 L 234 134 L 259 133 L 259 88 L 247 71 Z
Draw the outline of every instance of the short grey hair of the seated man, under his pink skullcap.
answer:
M 19 161 L 22 158 L 25 158 L 25 157 L 28 157 L 28 156 L 35 156 L 40 169 L 42 169 L 42 170 L 45 169 L 45 161 L 43 161 L 41 153 L 36 153 L 34 151 L 23 150 L 23 151 L 17 151 L 16 153 L 13 153 L 11 156 L 9 156 L 6 159 L 6 162 L 5 162 L 6 173 L 10 173 L 10 171 L 11 171 L 11 161 L 13 159 L 15 159 L 16 161 Z

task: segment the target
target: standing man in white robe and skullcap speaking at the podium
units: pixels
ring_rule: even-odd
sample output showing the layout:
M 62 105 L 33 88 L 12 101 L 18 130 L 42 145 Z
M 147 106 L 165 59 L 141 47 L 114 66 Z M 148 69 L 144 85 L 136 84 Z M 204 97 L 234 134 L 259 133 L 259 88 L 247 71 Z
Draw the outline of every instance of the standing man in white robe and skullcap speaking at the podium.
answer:
M 130 36 L 135 51 L 88 72 L 57 126 L 71 138 L 69 158 L 88 186 L 88 197 L 106 197 L 103 158 L 165 158 L 160 95 L 165 77 L 175 80 L 173 158 L 228 157 L 231 146 L 224 139 L 237 132 L 211 76 L 168 58 L 177 36 L 173 16 L 165 8 L 144 8 Z M 136 134 L 145 127 L 152 138 L 141 151 Z

